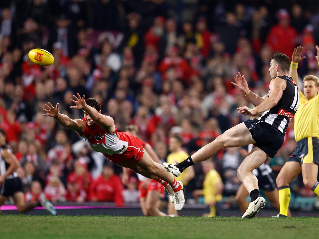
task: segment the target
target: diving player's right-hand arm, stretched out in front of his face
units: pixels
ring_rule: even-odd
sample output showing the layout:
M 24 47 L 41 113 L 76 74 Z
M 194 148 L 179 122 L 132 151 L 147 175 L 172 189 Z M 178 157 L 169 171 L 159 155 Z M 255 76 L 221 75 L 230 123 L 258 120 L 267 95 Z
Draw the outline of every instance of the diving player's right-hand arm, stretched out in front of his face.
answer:
M 75 105 L 70 106 L 71 109 L 82 109 L 92 118 L 92 120 L 98 122 L 102 129 L 104 129 L 108 133 L 113 133 L 115 131 L 113 118 L 107 115 L 103 115 L 90 105 L 87 105 L 85 103 L 85 95 L 83 95 L 81 98 L 79 93 L 77 93 L 77 96 L 73 95 L 73 97 L 75 100 L 71 99 L 71 101 Z

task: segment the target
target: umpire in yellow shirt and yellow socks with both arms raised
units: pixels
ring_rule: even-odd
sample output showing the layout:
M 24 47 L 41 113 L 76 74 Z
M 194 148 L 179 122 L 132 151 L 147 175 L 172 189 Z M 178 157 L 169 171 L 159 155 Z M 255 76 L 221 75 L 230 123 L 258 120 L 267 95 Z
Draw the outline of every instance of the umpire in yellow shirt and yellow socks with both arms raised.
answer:
M 316 46 L 316 59 L 319 64 L 319 47 Z M 294 49 L 290 64 L 290 77 L 298 85 L 298 63 L 303 47 Z M 278 186 L 280 211 L 278 217 L 286 217 L 290 201 L 289 183 L 302 172 L 303 183 L 319 196 L 317 181 L 319 163 L 319 79 L 308 75 L 303 79 L 303 92 L 299 89 L 299 107 L 295 114 L 294 132 L 297 147 L 280 170 L 276 183 Z

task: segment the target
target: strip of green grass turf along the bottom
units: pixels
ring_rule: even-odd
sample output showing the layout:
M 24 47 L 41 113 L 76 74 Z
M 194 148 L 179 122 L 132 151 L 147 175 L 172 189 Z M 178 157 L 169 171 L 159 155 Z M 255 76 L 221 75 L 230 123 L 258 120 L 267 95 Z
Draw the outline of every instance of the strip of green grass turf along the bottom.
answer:
M 319 238 L 319 218 L 1 215 L 0 238 Z

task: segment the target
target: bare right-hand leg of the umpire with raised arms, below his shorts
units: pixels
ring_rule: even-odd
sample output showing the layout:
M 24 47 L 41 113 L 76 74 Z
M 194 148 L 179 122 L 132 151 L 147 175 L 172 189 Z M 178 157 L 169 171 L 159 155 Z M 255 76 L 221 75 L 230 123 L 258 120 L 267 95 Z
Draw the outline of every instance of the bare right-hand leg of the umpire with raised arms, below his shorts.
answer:
M 319 196 L 318 165 L 315 163 L 303 163 L 301 171 L 303 183 Z

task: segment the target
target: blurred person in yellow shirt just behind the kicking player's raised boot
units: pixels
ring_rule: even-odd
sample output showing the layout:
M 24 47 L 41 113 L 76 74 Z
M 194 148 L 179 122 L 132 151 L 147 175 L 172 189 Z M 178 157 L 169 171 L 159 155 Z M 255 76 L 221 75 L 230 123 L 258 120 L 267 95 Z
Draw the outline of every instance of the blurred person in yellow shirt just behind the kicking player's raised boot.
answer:
M 182 137 L 178 134 L 174 134 L 169 138 L 168 148 L 171 153 L 167 156 L 167 163 L 175 164 L 177 161 L 178 163 L 182 162 L 185 158 L 189 157 L 189 155 L 182 149 L 183 140 Z M 184 186 L 188 184 L 188 182 L 195 177 L 195 171 L 193 167 L 189 167 L 182 172 L 182 174 L 178 177 L 175 177 L 176 181 L 181 181 Z M 172 203 L 168 204 L 168 214 L 178 215 L 177 211 L 173 206 Z

